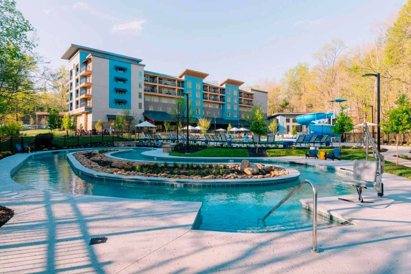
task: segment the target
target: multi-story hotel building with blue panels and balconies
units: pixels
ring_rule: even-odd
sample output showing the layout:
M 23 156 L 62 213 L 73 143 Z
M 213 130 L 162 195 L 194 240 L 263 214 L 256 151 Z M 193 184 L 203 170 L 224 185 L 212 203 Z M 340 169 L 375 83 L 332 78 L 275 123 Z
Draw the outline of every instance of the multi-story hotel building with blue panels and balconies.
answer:
M 94 129 L 98 120 L 104 128 L 114 126 L 125 110 L 134 122 L 148 120 L 161 128 L 164 121 L 175 122 L 176 100 L 185 93 L 192 115 L 210 117 L 218 127 L 247 126 L 254 105 L 267 113 L 267 92 L 242 90 L 242 81 L 228 78 L 216 85 L 204 81 L 208 74 L 191 69 L 178 76 L 146 71 L 141 59 L 74 44 L 62 59 L 69 61 L 68 113 L 85 130 Z

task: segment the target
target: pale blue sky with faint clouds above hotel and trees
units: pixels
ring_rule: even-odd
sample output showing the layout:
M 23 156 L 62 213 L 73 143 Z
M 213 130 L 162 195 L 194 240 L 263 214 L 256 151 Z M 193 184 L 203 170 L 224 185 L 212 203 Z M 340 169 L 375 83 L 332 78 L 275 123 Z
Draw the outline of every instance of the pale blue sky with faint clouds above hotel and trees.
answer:
M 315 2 L 315 4 L 313 4 Z M 143 59 L 145 69 L 178 75 L 189 68 L 206 80 L 233 78 L 253 85 L 279 81 L 331 39 L 347 46 L 377 36 L 406 0 L 138 1 L 17 0 L 37 29 L 37 52 L 51 67 L 79 44 Z

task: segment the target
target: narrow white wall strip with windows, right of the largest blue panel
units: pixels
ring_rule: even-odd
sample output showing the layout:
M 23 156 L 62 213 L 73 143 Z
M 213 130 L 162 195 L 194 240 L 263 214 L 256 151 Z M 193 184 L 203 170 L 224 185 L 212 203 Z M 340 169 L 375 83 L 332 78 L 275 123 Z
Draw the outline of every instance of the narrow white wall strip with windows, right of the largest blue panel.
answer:
M 139 77 L 139 72 L 141 77 Z M 139 82 L 141 83 L 141 88 L 139 88 Z M 141 99 L 139 99 L 139 92 L 141 92 Z M 139 109 L 139 103 L 141 103 L 141 109 Z M 131 110 L 136 117 L 136 121 L 133 123 L 138 123 L 139 120 L 144 121 L 143 116 L 144 111 L 144 67 L 138 64 L 131 64 Z

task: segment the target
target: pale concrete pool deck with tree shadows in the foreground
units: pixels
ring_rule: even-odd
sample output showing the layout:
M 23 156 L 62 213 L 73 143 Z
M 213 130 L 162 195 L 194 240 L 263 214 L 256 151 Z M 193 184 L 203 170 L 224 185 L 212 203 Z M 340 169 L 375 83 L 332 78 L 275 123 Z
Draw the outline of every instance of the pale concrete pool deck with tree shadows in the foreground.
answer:
M 320 229 L 318 244 L 323 252 L 310 253 L 310 229 L 192 230 L 201 203 L 29 189 L 9 176 L 26 157 L 16 154 L 0 161 L 0 191 L 25 195 L 0 194 L 0 204 L 15 211 L 0 228 L 0 273 L 411 272 L 411 180 L 403 177 L 384 174 L 382 198 L 374 190 L 364 191 L 365 197 L 376 200 L 374 204 L 320 198 L 321 210 L 340 214 L 355 225 Z M 275 160 L 352 169 L 351 161 Z M 88 245 L 91 237 L 101 236 L 108 237 L 105 244 Z

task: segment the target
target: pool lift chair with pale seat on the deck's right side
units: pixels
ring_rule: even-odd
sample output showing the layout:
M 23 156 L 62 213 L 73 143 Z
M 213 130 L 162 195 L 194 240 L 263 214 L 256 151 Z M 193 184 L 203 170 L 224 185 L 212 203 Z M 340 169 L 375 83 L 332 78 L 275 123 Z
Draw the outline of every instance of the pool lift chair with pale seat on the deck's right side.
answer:
M 377 191 L 377 196 L 382 197 L 384 195 L 384 184 L 382 183 L 382 174 L 384 173 L 384 156 L 377 150 L 374 140 L 369 134 L 367 125 L 364 123 L 364 134 L 366 137 L 366 160 L 354 160 L 353 179 L 362 182 L 343 182 L 344 184 L 351 184 L 355 187 L 358 192 L 358 201 L 360 203 L 373 203 L 366 202 L 363 200 L 362 191 L 363 189 L 375 189 Z M 378 161 L 368 161 L 368 144 L 372 145 L 372 148 L 377 156 Z M 338 198 L 338 200 L 343 200 L 351 203 L 356 203 L 353 200 L 347 200 L 343 198 Z

